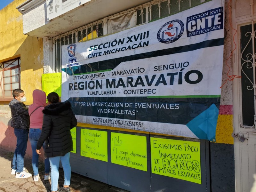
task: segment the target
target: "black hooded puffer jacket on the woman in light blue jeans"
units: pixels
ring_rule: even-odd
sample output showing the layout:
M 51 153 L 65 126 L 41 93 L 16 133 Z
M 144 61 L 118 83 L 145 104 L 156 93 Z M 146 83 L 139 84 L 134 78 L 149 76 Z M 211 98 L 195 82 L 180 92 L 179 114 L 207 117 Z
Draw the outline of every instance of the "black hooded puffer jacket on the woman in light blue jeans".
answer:
M 36 149 L 45 143 L 45 157 L 64 156 L 73 149 L 70 129 L 76 126 L 77 120 L 68 101 L 52 103 L 43 110 L 44 119 Z

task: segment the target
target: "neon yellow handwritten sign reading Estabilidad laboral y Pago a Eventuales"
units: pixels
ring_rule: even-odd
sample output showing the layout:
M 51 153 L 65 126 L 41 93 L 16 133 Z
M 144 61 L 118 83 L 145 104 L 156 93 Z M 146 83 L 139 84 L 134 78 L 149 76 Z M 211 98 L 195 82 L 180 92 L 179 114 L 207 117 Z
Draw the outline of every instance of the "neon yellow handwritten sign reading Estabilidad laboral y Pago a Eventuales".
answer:
M 108 162 L 108 132 L 81 129 L 81 156 Z

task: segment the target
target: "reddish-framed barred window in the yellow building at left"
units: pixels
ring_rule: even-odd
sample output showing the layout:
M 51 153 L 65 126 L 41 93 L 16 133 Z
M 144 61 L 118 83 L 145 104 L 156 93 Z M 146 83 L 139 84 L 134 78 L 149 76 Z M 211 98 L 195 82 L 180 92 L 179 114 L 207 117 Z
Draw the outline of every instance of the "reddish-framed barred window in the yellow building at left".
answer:
M 0 63 L 0 98 L 12 97 L 20 88 L 20 58 Z

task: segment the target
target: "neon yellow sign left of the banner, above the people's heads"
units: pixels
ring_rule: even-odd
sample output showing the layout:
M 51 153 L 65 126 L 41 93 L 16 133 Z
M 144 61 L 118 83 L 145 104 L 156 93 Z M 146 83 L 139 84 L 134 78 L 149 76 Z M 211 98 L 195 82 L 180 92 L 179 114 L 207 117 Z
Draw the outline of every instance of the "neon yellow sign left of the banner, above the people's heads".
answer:
M 42 75 L 42 90 L 46 96 L 56 92 L 61 97 L 61 73 L 46 73 Z

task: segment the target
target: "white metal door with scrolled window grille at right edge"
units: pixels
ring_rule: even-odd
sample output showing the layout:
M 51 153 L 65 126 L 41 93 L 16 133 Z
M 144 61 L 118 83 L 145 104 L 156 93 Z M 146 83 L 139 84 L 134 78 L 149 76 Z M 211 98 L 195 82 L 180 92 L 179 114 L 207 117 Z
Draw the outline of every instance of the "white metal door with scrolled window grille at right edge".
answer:
M 255 2 L 256 3 L 256 2 Z M 256 4 L 232 1 L 235 176 L 237 192 L 256 192 Z

